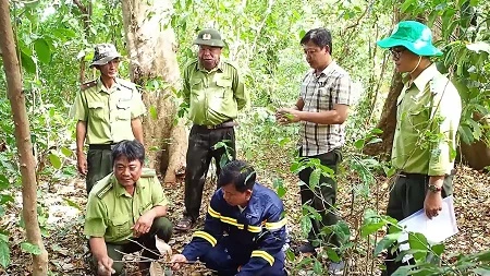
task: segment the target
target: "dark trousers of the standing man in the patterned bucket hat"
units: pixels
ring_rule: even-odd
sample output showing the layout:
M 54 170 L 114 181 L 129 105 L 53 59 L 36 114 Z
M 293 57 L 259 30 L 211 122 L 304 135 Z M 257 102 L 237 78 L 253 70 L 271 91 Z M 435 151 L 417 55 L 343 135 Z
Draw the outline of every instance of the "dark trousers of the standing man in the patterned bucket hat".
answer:
M 91 188 L 94 188 L 97 181 L 111 172 L 112 151 L 89 148 L 87 153 L 87 179 L 85 182 L 87 194 L 90 193 Z

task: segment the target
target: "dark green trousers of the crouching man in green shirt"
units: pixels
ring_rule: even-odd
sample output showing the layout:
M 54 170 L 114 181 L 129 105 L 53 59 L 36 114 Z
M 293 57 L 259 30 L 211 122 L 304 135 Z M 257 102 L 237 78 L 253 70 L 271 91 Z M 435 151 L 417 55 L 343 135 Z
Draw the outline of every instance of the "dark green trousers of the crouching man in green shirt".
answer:
M 148 233 L 146 233 L 139 238 L 135 238 L 133 240 L 137 241 L 139 244 L 143 244 L 145 248 L 151 250 L 152 252 L 159 253 L 158 249 L 156 247 L 155 236 L 164 240 L 166 242 L 169 242 L 170 237 L 172 236 L 172 223 L 167 217 L 156 218 L 154 220 L 154 224 L 151 225 L 151 228 Z M 143 249 L 140 245 L 138 245 L 137 243 L 130 241 L 130 240 L 124 243 L 107 242 L 106 245 L 107 245 L 107 254 L 109 255 L 110 259 L 112 259 L 112 261 L 114 261 L 114 264 L 112 265 L 112 268 L 115 271 L 115 274 L 112 274 L 114 276 L 125 276 L 126 275 L 126 272 L 123 267 L 123 263 L 115 262 L 115 261 L 121 261 L 123 257 L 123 254 L 118 251 L 121 251 L 124 253 L 134 253 L 134 252 Z M 159 255 L 157 255 L 152 252 L 149 252 L 148 250 L 143 250 L 142 256 L 150 257 L 152 260 L 159 260 L 160 259 Z M 142 261 L 145 261 L 145 260 L 147 260 L 147 259 L 142 259 Z M 97 267 L 97 260 L 94 257 L 93 261 L 94 261 L 95 267 Z M 145 272 L 145 273 L 148 273 L 148 272 Z

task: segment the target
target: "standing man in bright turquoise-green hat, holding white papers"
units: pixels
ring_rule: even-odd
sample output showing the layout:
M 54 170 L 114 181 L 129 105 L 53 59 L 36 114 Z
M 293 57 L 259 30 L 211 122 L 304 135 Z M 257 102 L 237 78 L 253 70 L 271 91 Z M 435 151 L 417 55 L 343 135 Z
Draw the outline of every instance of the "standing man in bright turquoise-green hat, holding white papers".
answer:
M 442 209 L 442 199 L 453 193 L 460 94 L 431 60 L 442 52 L 432 45 L 426 25 L 402 21 L 378 46 L 390 50 L 396 70 L 407 77 L 396 103 L 392 165 L 397 175 L 387 215 L 401 220 L 424 209 L 433 218 Z M 384 275 L 403 265 L 395 257 L 389 250 Z

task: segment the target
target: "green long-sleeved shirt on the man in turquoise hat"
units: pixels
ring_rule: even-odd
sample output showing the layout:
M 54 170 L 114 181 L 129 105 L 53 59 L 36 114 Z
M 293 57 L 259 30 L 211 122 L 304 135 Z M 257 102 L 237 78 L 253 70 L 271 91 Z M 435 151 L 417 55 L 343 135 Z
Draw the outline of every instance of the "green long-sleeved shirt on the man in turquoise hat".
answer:
M 405 85 L 397 98 L 392 164 L 428 176 L 451 173 L 462 105 L 454 85 L 434 64 Z

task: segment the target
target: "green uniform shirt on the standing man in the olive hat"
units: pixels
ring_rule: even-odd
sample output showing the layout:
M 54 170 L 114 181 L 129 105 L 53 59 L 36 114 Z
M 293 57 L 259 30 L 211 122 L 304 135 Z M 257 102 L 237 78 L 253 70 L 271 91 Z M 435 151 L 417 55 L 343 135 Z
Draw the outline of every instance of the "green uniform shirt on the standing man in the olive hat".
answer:
M 197 60 L 184 70 L 184 100 L 195 124 L 216 125 L 235 119 L 248 103 L 238 70 L 226 61 L 206 71 Z

